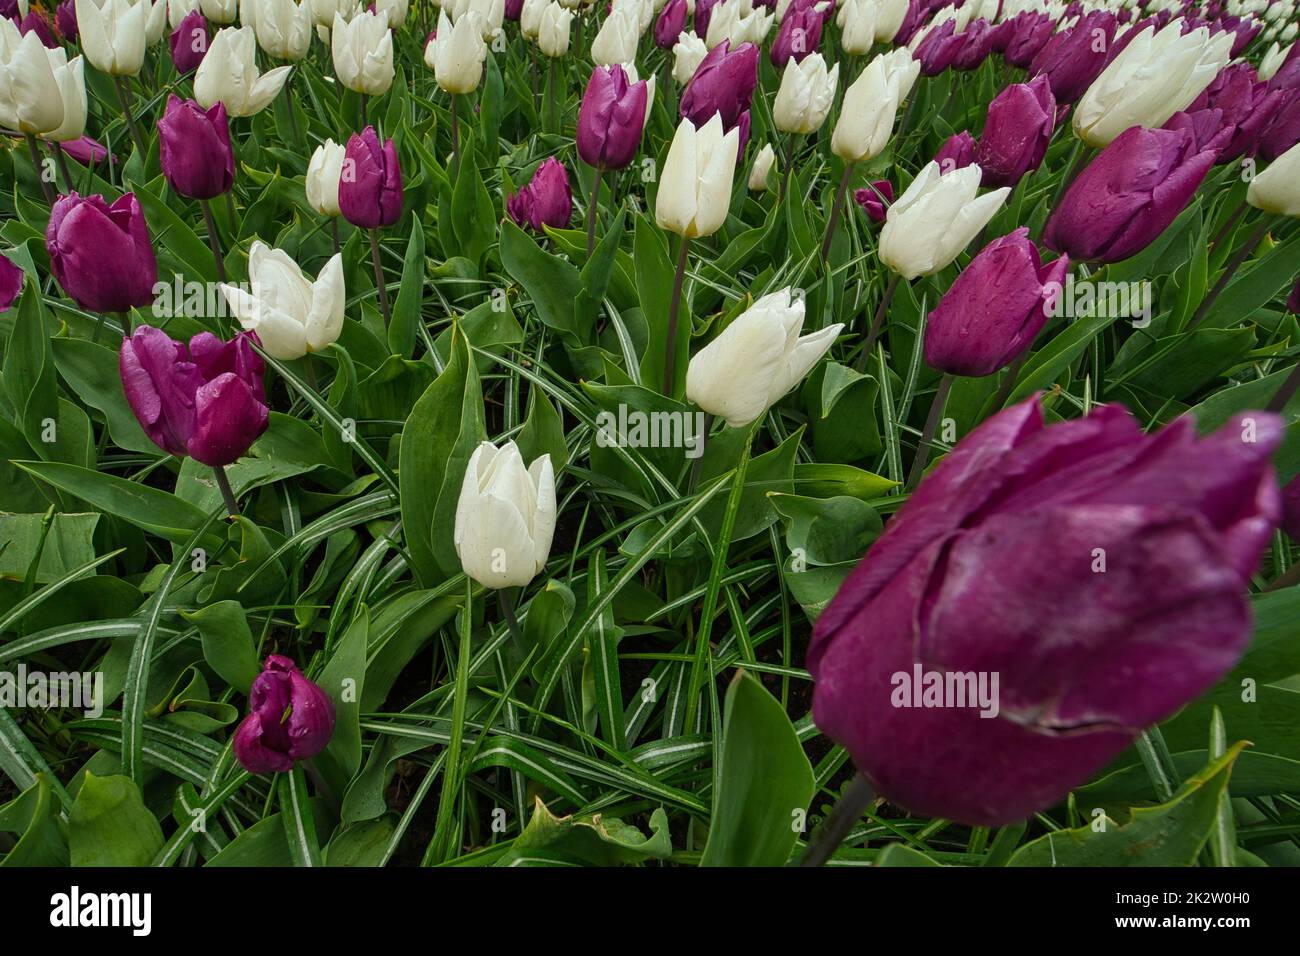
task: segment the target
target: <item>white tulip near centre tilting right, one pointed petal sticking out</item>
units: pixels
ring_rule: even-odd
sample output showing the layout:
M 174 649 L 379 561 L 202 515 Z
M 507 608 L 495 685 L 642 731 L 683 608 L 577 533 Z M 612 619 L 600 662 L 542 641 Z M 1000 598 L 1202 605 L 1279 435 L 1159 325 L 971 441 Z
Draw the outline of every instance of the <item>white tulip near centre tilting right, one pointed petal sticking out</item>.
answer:
M 809 373 L 842 328 L 800 336 L 803 298 L 792 299 L 789 286 L 764 295 L 690 359 L 686 398 L 744 428 Z

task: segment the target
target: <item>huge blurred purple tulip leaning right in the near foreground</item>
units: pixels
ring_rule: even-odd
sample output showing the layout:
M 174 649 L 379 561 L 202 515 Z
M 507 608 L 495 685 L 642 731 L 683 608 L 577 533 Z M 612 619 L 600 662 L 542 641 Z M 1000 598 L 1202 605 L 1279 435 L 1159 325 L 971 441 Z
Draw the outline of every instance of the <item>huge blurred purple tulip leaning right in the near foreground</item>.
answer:
M 1037 397 L 988 419 L 818 619 L 816 726 L 913 813 L 1001 826 L 1057 803 L 1242 656 L 1280 432 L 1247 412 L 1144 434 L 1113 405 L 1044 427 Z M 935 706 L 935 674 L 984 701 Z

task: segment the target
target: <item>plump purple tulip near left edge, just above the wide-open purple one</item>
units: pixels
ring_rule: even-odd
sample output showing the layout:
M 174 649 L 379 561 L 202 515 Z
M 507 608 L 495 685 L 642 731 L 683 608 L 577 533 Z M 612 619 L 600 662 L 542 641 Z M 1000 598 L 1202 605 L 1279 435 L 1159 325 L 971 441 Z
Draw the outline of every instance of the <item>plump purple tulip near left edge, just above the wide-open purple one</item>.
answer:
M 125 312 L 153 302 L 157 261 L 134 193 L 60 196 L 46 228 L 49 269 L 58 286 L 91 312 Z

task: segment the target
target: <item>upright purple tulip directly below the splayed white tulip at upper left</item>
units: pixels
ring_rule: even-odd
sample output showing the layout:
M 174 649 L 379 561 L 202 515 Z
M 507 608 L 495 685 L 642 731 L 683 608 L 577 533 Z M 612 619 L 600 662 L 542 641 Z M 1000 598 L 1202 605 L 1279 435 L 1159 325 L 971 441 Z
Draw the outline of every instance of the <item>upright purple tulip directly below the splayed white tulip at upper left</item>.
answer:
M 159 161 L 168 185 L 190 199 L 212 199 L 235 181 L 230 124 L 221 103 L 204 109 L 194 100 L 166 98 L 159 120 Z

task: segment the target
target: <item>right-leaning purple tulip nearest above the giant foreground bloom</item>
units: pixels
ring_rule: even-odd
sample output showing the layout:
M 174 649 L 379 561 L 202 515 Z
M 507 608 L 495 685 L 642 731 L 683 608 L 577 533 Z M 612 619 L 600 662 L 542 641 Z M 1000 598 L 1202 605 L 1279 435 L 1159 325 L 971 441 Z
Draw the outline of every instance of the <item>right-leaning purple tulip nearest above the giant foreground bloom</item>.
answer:
M 1028 226 L 993 239 L 930 313 L 926 363 L 940 372 L 993 375 L 1028 349 L 1061 298 L 1070 256 L 1044 265 Z

